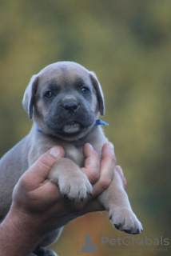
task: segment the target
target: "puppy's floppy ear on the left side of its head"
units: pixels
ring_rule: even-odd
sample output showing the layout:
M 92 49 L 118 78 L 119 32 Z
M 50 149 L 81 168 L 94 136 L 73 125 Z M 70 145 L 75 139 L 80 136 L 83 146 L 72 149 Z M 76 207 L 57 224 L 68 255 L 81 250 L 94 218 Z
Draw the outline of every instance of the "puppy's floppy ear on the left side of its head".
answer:
M 22 106 L 26 110 L 31 119 L 33 116 L 34 109 L 34 95 L 38 87 L 38 75 L 33 75 L 29 85 L 26 87 L 26 91 L 22 100 Z

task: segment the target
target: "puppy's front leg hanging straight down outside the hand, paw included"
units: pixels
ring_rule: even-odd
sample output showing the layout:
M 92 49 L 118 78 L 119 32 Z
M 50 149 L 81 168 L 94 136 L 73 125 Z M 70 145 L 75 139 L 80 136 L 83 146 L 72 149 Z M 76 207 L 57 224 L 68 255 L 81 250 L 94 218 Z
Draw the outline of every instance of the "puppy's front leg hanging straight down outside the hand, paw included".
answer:
M 131 209 L 129 198 L 116 170 L 113 173 L 113 181 L 109 188 L 100 195 L 99 201 L 105 206 L 105 210 L 109 211 L 109 219 L 117 230 L 128 234 L 141 233 L 141 222 Z

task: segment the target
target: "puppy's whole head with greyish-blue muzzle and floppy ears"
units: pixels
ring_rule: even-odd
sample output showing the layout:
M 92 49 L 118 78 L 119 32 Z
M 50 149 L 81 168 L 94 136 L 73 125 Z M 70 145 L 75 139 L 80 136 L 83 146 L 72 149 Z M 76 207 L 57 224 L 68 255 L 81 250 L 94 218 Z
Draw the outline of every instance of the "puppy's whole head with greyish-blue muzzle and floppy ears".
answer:
M 75 62 L 57 62 L 34 75 L 22 103 L 42 132 L 68 140 L 84 137 L 105 113 L 96 75 Z

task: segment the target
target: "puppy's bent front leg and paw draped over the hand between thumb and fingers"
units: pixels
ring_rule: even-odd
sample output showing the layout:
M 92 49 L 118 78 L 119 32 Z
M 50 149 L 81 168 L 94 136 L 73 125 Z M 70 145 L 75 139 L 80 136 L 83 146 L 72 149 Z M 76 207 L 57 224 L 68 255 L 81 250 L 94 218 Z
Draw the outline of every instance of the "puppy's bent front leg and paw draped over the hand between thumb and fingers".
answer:
M 79 166 L 69 158 L 62 158 L 50 171 L 49 178 L 58 184 L 63 196 L 71 200 L 84 200 L 92 194 L 92 186 Z

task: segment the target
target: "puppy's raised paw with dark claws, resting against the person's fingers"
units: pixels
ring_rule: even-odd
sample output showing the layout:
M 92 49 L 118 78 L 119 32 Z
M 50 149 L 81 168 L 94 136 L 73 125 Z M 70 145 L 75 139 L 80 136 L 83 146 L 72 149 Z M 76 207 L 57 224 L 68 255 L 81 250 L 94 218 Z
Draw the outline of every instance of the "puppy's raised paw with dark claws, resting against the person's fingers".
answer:
M 85 174 L 80 171 L 77 176 L 68 178 L 59 177 L 58 186 L 63 196 L 72 201 L 83 201 L 87 195 L 92 194 L 93 188 Z

